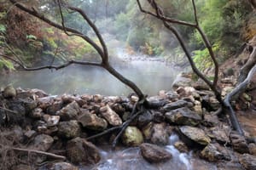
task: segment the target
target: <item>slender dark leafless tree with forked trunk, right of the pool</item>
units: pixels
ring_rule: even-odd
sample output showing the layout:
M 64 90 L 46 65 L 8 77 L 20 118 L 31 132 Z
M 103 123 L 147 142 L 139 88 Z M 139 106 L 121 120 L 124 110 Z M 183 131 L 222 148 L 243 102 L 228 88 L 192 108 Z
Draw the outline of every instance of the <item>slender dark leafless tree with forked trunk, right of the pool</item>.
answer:
M 233 111 L 232 107 L 230 106 L 230 103 L 227 102 L 227 100 L 224 102 L 224 100 L 221 98 L 221 92 L 218 88 L 218 62 L 217 59 L 212 51 L 212 45 L 207 39 L 207 36 L 204 34 L 204 32 L 201 30 L 201 27 L 199 26 L 198 18 L 197 18 L 197 11 L 195 7 L 195 0 L 192 0 L 192 5 L 194 9 L 194 18 L 195 22 L 187 22 L 183 20 L 176 20 L 172 19 L 168 16 L 166 16 L 163 9 L 160 7 L 159 3 L 157 3 L 155 0 L 147 0 L 148 4 L 151 6 L 151 8 L 154 10 L 154 12 L 145 10 L 142 6 L 142 3 L 140 0 L 137 0 L 137 5 L 140 8 L 141 12 L 144 14 L 149 14 L 153 16 L 154 18 L 161 20 L 163 22 L 163 25 L 171 31 L 175 37 L 177 37 L 177 41 L 180 43 L 181 47 L 183 48 L 184 53 L 186 54 L 187 59 L 189 59 L 189 64 L 191 65 L 192 70 L 195 72 L 195 74 L 200 77 L 204 82 L 207 83 L 207 85 L 211 88 L 212 92 L 215 94 L 216 99 L 218 99 L 218 102 L 222 105 L 222 111 L 227 111 L 230 115 L 230 122 L 232 127 L 241 135 L 243 135 L 241 126 L 237 120 L 236 113 Z M 186 47 L 185 42 L 183 41 L 183 37 L 180 35 L 179 31 L 177 31 L 175 25 L 180 26 L 189 26 L 192 28 L 195 28 L 196 31 L 198 31 L 201 35 L 201 39 L 205 44 L 205 47 L 208 49 L 208 52 L 210 54 L 210 57 L 212 59 L 213 65 L 214 65 L 214 79 L 213 82 L 207 79 L 207 77 L 198 70 L 198 68 L 195 66 L 195 62 L 192 59 L 191 54 L 189 53 L 189 49 Z

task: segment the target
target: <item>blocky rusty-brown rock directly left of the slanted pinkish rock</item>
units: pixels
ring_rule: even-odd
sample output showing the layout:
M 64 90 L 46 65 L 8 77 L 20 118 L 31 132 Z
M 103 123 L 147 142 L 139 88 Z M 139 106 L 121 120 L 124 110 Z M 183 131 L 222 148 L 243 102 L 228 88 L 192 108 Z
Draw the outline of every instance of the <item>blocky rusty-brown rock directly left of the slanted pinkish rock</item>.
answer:
M 83 127 L 87 127 L 91 130 L 102 131 L 108 127 L 108 122 L 96 116 L 96 114 L 90 113 L 88 110 L 81 110 L 82 115 L 79 116 L 79 122 Z

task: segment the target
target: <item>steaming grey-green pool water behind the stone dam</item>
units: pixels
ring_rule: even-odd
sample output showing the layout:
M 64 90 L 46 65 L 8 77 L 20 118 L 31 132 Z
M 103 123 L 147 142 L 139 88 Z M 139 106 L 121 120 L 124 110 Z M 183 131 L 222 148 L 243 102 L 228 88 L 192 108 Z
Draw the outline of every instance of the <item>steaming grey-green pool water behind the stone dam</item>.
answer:
M 113 67 L 148 95 L 156 95 L 161 89 L 171 90 L 180 72 L 163 61 L 146 58 L 125 59 Z M 108 71 L 86 65 L 72 65 L 60 71 L 17 71 L 0 77 L 0 87 L 9 83 L 15 88 L 40 88 L 48 94 L 127 95 L 132 92 Z

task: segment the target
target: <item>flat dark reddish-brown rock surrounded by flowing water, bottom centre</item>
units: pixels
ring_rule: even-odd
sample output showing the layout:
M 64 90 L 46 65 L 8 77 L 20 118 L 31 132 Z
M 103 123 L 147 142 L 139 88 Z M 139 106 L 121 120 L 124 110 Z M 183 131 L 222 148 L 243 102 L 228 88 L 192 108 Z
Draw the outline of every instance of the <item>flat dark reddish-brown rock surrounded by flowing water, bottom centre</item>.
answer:
M 172 158 L 171 153 L 154 144 L 140 144 L 141 154 L 143 158 L 149 162 L 167 161 Z

